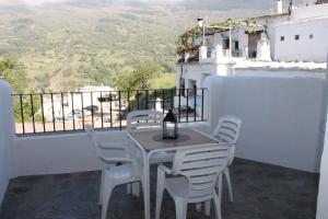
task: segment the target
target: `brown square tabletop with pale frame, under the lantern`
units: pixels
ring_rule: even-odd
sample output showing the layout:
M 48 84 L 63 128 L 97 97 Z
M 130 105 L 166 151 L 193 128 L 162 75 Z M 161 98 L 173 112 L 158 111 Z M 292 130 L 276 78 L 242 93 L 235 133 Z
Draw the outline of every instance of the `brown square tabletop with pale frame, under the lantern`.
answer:
M 216 140 L 209 138 L 206 135 L 190 128 L 180 128 L 178 131 L 177 139 L 163 139 L 162 129 L 140 130 L 131 132 L 130 135 L 147 151 L 164 148 L 178 148 L 186 146 L 218 143 Z

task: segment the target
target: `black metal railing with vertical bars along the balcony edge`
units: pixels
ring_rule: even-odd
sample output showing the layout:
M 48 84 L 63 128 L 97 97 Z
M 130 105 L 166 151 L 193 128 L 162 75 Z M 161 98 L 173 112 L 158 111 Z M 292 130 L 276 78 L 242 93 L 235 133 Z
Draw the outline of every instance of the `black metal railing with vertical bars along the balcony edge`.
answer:
M 159 89 L 12 94 L 16 135 L 126 126 L 131 111 L 173 108 L 179 123 L 203 122 L 204 89 Z

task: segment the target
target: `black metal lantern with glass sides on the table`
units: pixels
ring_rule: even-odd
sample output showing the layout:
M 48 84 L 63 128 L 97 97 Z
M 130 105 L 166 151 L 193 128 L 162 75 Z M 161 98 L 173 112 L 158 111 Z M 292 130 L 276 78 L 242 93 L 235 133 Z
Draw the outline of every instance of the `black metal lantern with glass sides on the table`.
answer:
M 177 129 L 177 119 L 172 110 L 168 110 L 168 113 L 163 119 L 163 139 L 176 139 L 178 137 Z

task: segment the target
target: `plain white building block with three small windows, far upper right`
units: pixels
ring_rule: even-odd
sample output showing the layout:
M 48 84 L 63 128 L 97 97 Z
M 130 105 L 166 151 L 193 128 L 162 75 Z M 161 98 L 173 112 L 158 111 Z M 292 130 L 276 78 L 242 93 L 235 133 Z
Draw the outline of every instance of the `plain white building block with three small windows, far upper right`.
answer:
M 293 10 L 289 21 L 274 26 L 274 60 L 326 61 L 328 4 Z

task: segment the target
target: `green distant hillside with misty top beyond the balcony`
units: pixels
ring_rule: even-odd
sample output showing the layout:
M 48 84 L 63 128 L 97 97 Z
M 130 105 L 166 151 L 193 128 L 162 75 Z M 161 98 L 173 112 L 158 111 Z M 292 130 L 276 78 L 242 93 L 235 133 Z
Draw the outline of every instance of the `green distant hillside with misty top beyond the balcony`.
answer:
M 175 41 L 198 16 L 214 22 L 274 8 L 274 1 L 261 0 L 151 2 L 80 0 L 0 7 L 0 58 L 15 57 L 32 79 L 26 87 L 40 91 L 112 85 L 116 74 L 133 70 L 140 61 L 174 72 Z

